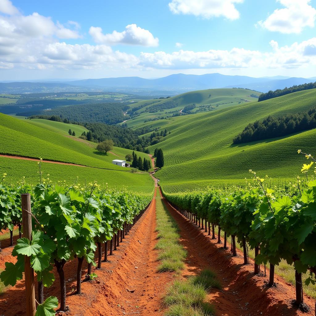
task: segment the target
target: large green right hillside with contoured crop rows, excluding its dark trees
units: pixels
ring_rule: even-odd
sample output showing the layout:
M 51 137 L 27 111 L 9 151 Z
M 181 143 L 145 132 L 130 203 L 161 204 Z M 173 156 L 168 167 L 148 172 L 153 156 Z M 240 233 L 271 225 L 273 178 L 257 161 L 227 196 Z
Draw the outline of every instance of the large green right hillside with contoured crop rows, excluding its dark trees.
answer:
M 151 146 L 162 148 L 165 167 L 156 173 L 166 191 L 190 190 L 213 183 L 242 181 L 249 169 L 261 176 L 292 177 L 300 173 L 297 149 L 316 151 L 316 130 L 258 142 L 233 145 L 246 125 L 269 115 L 308 110 L 315 105 L 316 89 L 263 102 L 243 103 L 221 110 L 173 118 L 171 134 Z M 234 181 L 233 181 L 234 180 Z

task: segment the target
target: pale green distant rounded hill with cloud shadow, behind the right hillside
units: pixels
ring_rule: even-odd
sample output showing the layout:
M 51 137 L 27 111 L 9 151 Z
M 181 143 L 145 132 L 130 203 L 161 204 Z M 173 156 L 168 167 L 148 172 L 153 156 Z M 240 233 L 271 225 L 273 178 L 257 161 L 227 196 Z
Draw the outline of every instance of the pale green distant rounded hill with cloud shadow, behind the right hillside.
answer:
M 187 105 L 196 104 L 192 112 L 208 112 L 211 110 L 220 110 L 226 107 L 239 105 L 241 103 L 248 103 L 257 101 L 256 98 L 250 94 L 260 95 L 259 92 L 254 92 L 247 89 L 207 89 L 199 91 L 191 91 L 183 94 L 173 96 L 171 98 L 162 100 L 145 100 L 133 104 L 133 107 L 142 106 L 135 113 L 139 116 L 130 119 L 126 122 L 129 127 L 138 128 L 142 126 L 151 126 L 156 123 L 156 126 L 164 126 L 164 120 L 144 123 L 147 119 L 154 119 L 161 116 L 171 117 L 173 113 L 180 112 Z M 164 105 L 168 102 L 175 102 L 173 108 L 165 109 Z M 154 103 L 153 103 L 154 102 Z M 152 107 L 161 107 L 161 111 L 150 112 Z

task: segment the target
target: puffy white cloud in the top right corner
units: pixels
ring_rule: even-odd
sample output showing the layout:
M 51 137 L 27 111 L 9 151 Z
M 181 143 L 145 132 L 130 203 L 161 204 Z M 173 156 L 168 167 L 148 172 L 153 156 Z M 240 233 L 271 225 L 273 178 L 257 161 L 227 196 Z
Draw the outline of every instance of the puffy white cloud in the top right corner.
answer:
M 258 25 L 272 32 L 299 34 L 305 27 L 314 27 L 316 9 L 310 0 L 277 0 L 285 8 L 276 9 Z

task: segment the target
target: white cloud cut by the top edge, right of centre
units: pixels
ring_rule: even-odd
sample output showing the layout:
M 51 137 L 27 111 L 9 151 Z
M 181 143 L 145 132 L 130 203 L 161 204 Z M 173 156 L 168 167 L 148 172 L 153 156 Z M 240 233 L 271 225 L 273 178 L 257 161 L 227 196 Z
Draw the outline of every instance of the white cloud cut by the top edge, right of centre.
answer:
M 239 11 L 234 3 L 242 3 L 243 0 L 172 0 L 169 9 L 174 14 L 191 14 L 204 18 L 223 16 L 229 20 L 239 18 Z

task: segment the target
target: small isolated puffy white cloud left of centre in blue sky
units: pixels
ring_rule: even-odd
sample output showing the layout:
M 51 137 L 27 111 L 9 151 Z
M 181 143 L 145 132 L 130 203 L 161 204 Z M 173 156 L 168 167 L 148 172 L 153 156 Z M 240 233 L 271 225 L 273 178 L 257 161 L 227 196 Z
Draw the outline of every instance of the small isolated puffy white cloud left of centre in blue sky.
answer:
M 139 46 L 158 46 L 159 40 L 152 33 L 136 24 L 130 24 L 125 27 L 125 31 L 103 34 L 101 27 L 90 27 L 89 34 L 96 43 L 117 45 L 139 45 Z

